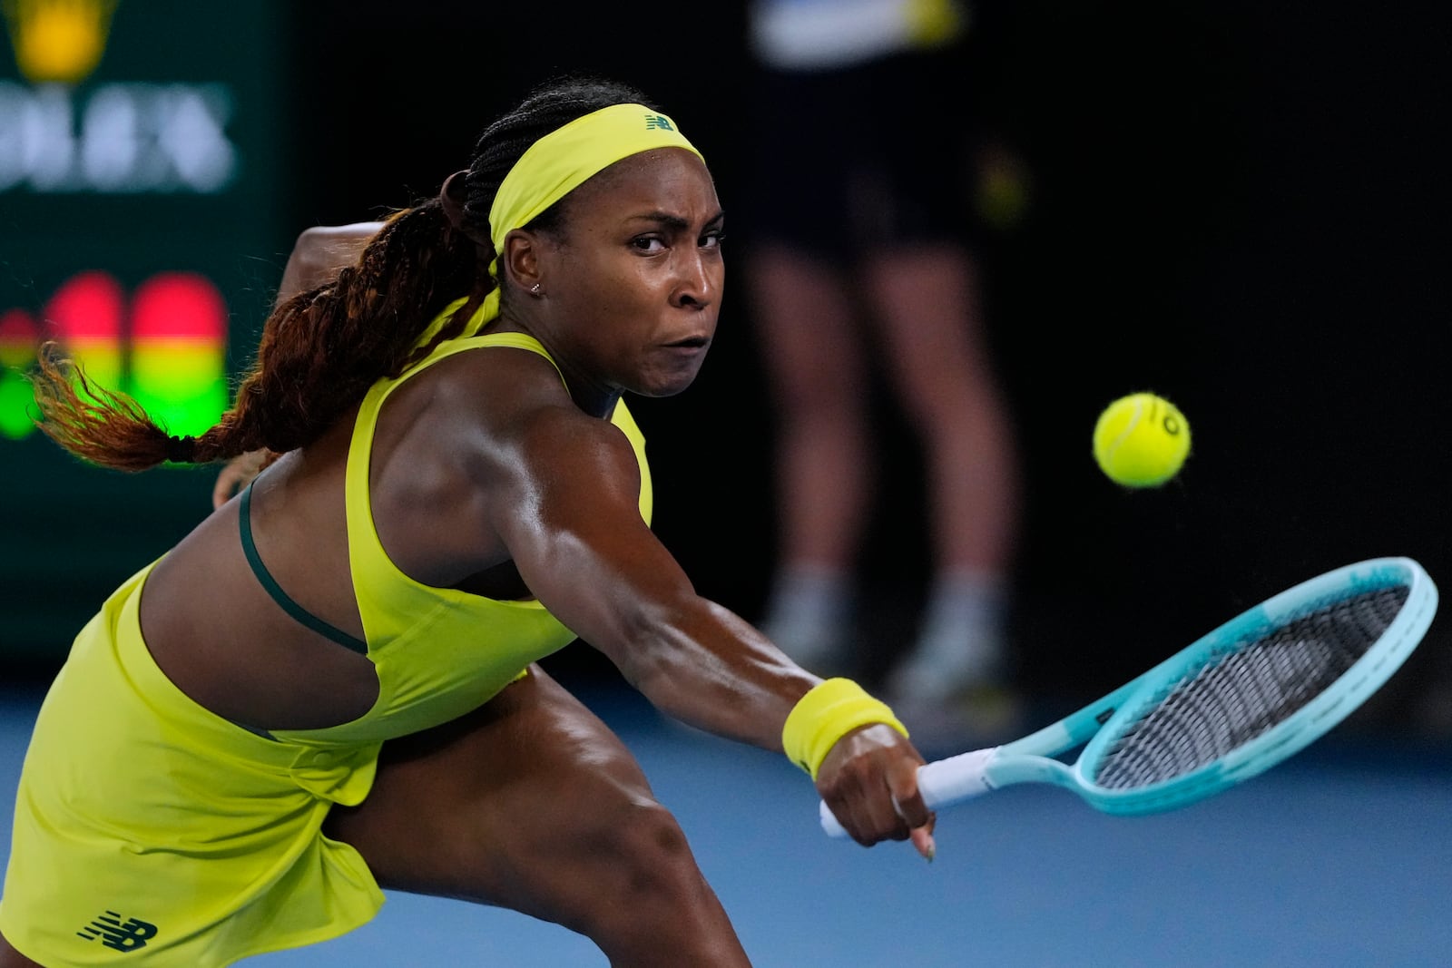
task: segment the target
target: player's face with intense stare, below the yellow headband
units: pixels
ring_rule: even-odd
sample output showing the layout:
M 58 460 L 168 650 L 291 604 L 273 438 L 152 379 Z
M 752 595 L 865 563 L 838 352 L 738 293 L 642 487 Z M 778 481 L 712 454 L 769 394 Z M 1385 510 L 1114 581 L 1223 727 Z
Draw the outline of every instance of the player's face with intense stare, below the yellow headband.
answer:
M 563 238 L 540 254 L 547 329 L 572 387 L 680 393 L 716 334 L 722 208 L 701 160 L 680 148 L 632 155 L 566 200 Z

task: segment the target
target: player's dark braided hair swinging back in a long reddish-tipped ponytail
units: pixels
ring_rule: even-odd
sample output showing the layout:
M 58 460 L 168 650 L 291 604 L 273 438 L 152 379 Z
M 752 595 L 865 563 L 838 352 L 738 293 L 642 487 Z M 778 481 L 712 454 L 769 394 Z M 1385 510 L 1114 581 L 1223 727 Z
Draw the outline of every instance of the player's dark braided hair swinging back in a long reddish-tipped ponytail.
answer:
M 395 213 L 356 264 L 273 309 L 232 409 L 196 438 L 171 437 L 135 401 L 89 383 L 68 360 L 42 353 L 33 377 L 41 430 L 71 453 L 122 470 L 163 462 L 208 463 L 253 450 L 311 444 L 382 377 L 398 376 L 463 331 L 495 283 L 489 208 L 520 157 L 549 132 L 603 107 L 652 106 L 614 81 L 565 77 L 531 91 L 489 125 L 465 177 L 463 218 L 450 223 L 439 199 Z M 556 203 L 530 225 L 549 231 Z M 468 296 L 439 335 L 420 334 L 450 302 Z M 499 293 L 508 299 L 508 287 Z

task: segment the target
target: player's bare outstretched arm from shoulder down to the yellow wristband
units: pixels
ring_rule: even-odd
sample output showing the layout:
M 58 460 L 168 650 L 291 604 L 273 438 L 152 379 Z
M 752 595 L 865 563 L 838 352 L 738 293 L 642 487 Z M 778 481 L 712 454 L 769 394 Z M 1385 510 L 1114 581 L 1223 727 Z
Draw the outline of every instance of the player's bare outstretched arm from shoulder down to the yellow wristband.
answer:
M 780 750 L 787 714 L 820 679 L 696 594 L 640 520 L 624 435 L 559 406 L 531 417 L 510 450 L 497 462 L 510 496 L 494 527 L 540 601 L 664 713 Z

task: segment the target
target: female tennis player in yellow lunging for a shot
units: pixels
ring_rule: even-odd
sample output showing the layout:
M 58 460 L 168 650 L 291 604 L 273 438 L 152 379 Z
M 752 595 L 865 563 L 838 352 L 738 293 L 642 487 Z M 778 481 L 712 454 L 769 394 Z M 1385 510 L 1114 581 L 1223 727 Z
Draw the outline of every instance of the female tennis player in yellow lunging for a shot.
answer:
M 649 530 L 621 396 L 696 377 L 720 239 L 675 120 L 568 80 L 283 300 L 200 437 L 42 363 L 44 428 L 83 459 L 282 456 L 76 639 L 0 967 L 228 965 L 363 924 L 380 888 L 556 922 L 616 965 L 749 964 L 635 759 L 534 665 L 576 637 L 662 711 L 783 750 L 858 842 L 931 855 L 893 713 L 700 598 Z

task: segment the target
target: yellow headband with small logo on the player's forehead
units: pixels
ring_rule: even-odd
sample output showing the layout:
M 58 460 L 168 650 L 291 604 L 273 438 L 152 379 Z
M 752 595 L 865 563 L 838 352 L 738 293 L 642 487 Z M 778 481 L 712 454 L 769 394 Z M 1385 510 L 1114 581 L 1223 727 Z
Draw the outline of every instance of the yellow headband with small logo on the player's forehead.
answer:
M 494 196 L 489 208 L 494 251 L 502 253 L 505 235 L 529 225 L 591 176 L 653 148 L 685 148 L 701 157 L 674 120 L 645 104 L 603 107 L 544 135 L 514 163 Z M 495 258 L 491 271 L 497 273 L 498 264 Z

